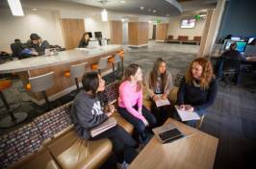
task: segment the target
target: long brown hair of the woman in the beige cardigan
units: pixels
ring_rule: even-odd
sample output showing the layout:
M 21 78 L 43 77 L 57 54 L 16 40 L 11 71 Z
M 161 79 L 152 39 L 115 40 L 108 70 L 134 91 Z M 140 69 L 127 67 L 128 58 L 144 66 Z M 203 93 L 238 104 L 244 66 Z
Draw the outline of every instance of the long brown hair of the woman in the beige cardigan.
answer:
M 153 69 L 150 71 L 150 85 L 153 87 L 153 89 L 156 88 L 157 86 L 157 81 L 158 81 L 158 74 L 159 74 L 159 66 L 161 62 L 165 62 L 165 60 L 162 60 L 162 58 L 158 58 L 154 62 Z M 162 73 L 161 75 L 161 80 L 162 80 L 162 86 L 166 86 L 166 71 Z

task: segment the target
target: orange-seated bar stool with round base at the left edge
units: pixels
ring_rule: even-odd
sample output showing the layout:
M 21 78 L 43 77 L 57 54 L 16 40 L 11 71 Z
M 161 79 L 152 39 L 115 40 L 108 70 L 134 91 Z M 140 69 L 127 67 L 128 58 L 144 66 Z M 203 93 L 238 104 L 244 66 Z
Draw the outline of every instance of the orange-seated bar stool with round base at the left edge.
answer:
M 13 85 L 13 82 L 11 80 L 4 80 L 0 81 L 0 97 L 6 107 L 8 109 L 8 113 L 10 116 L 5 117 L 0 121 L 0 128 L 10 128 L 13 127 L 24 120 L 28 117 L 28 113 L 26 112 L 15 112 L 13 113 L 13 110 L 10 109 L 9 104 L 6 101 L 6 98 L 2 92 L 2 90 L 7 89 Z

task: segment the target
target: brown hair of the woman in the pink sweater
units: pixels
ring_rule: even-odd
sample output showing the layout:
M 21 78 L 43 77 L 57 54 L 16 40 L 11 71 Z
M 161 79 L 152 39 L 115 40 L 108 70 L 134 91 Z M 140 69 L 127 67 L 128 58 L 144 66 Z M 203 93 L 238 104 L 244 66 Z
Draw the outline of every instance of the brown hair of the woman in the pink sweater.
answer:
M 121 83 L 123 83 L 124 81 L 131 81 L 131 76 L 134 76 L 137 73 L 139 68 L 141 68 L 141 65 L 139 64 L 136 64 L 136 63 L 129 64 L 125 69 Z M 142 89 L 142 82 L 138 81 L 136 91 L 139 92 L 141 91 L 141 89 Z

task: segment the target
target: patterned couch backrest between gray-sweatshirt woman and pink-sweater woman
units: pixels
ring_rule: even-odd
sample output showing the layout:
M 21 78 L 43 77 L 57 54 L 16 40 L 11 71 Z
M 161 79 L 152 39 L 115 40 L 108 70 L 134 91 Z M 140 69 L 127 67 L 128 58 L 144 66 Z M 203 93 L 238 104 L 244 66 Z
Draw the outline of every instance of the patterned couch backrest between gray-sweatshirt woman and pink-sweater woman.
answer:
M 115 81 L 114 83 L 106 85 L 105 90 L 107 93 L 109 103 L 119 97 L 119 92 L 118 92 L 119 84 L 120 84 L 119 81 Z

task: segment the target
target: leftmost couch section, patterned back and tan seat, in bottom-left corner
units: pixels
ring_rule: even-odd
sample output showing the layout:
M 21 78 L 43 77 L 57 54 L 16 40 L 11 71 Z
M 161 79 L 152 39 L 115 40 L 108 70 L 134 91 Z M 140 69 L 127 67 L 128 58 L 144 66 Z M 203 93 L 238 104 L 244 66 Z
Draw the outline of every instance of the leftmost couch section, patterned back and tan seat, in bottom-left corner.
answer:
M 0 168 L 59 168 L 33 122 L 2 135 L 0 147 Z

